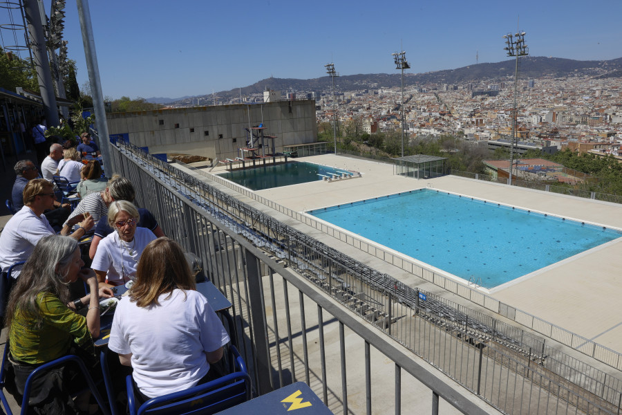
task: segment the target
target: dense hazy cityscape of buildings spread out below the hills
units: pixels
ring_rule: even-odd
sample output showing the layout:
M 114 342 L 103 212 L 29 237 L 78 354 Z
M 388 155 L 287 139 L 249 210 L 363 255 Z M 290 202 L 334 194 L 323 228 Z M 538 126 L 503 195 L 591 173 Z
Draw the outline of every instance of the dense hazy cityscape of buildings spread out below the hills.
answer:
M 607 77 L 611 70 L 598 68 L 572 75 L 548 75 L 518 80 L 516 139 L 547 151 L 569 147 L 573 151 L 619 155 L 622 140 L 622 80 Z M 605 75 L 605 76 L 603 76 Z M 408 79 L 408 77 L 407 77 Z M 288 80 L 280 80 L 281 84 Z M 296 80 L 296 84 L 301 80 Z M 376 133 L 400 128 L 402 95 L 399 86 L 376 83 L 339 87 L 335 111 L 341 125 L 356 122 L 361 132 Z M 412 82 L 412 81 L 411 81 Z M 309 82 L 310 83 L 310 82 Z M 319 82 L 315 82 L 319 83 Z M 387 82 L 394 83 L 394 82 Z M 258 82 L 259 85 L 261 82 Z M 327 85 L 328 83 L 324 83 Z M 512 138 L 513 76 L 468 82 L 417 82 L 404 86 L 406 136 L 410 139 L 459 136 L 473 142 L 505 142 Z M 169 107 L 263 102 L 264 93 L 229 91 L 185 98 Z M 317 122 L 334 120 L 333 93 L 323 89 L 276 91 L 279 99 L 314 99 Z M 273 98 L 274 99 L 274 98 Z M 555 150 L 556 149 L 556 150 Z

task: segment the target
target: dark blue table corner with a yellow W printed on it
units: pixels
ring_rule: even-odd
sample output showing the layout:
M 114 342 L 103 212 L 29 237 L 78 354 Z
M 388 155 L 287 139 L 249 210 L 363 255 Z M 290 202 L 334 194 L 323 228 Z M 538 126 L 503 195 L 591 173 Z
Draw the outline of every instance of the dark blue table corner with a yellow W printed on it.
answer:
M 295 412 L 294 412 L 295 410 Z M 269 394 L 251 399 L 240 405 L 236 405 L 217 415 L 310 415 L 330 414 L 330 409 L 324 405 L 310 387 L 304 382 L 292 383 L 276 389 Z

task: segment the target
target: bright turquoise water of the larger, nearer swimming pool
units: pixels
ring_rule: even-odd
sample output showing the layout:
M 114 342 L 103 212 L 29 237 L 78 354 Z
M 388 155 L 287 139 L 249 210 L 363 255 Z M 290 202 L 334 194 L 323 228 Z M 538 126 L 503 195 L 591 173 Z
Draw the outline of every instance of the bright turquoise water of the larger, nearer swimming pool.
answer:
M 413 192 L 308 212 L 409 257 L 493 288 L 622 232 L 496 203 Z

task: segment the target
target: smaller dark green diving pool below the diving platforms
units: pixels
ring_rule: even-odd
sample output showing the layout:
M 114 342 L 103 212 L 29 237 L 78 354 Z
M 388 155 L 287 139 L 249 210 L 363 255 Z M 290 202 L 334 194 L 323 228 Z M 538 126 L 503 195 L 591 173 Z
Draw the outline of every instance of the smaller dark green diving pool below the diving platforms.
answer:
M 324 177 L 332 178 L 342 174 L 353 175 L 348 170 L 335 169 L 304 161 L 290 161 L 279 165 L 236 170 L 235 172 L 219 174 L 219 176 L 238 183 L 238 185 L 248 187 L 250 190 L 264 190 L 271 189 L 272 187 L 318 181 Z

